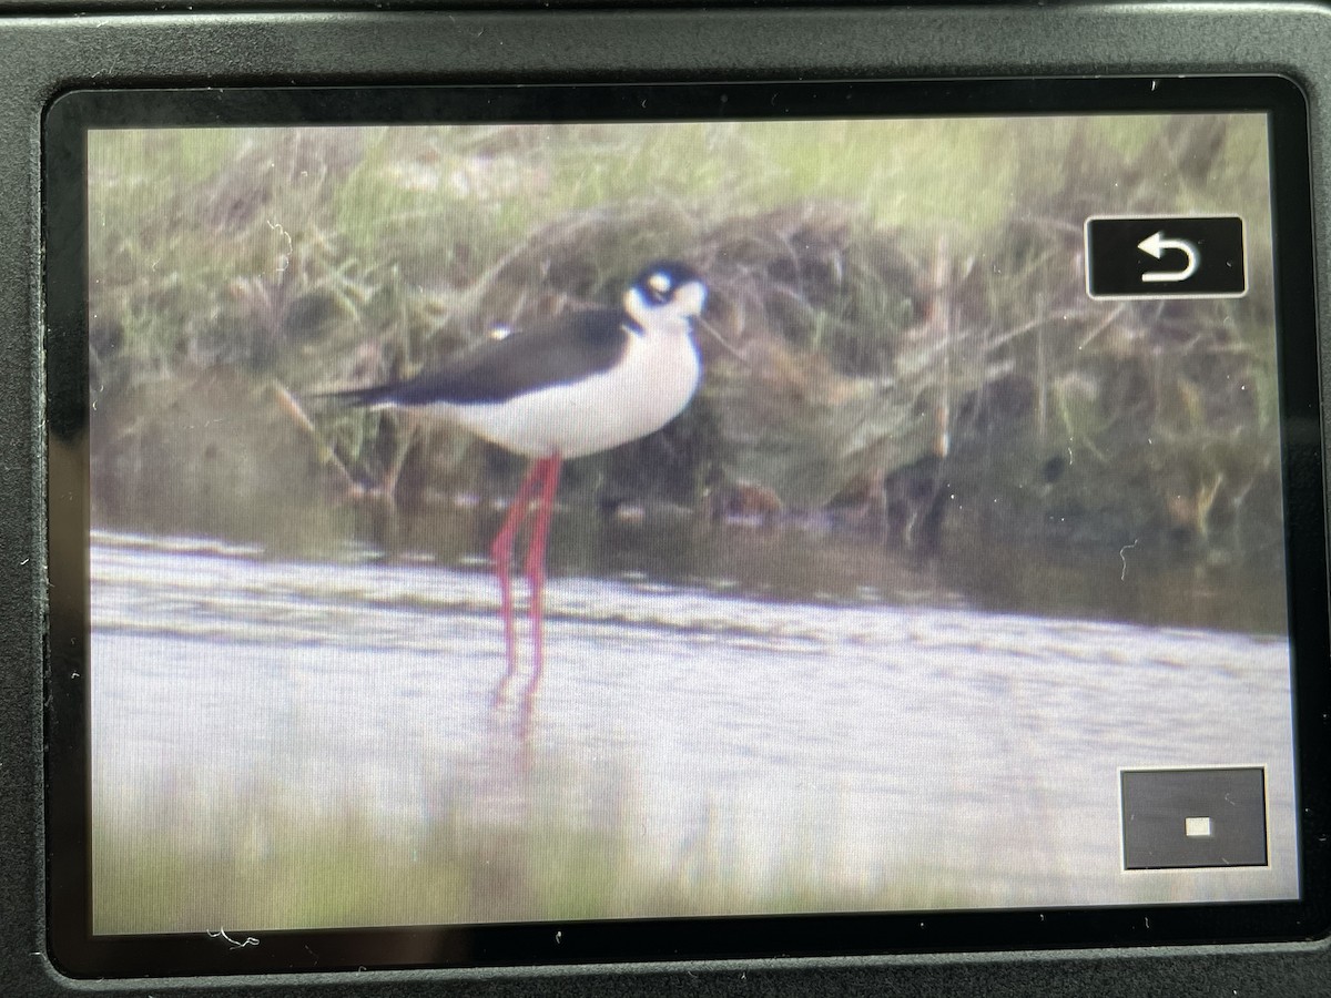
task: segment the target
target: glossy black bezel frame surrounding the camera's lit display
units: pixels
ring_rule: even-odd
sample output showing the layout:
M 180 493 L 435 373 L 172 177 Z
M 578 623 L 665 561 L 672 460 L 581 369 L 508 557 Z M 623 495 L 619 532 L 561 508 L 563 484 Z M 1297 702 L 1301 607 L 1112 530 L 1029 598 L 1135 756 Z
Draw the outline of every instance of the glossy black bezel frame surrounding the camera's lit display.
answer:
M 87 440 L 84 149 L 91 128 L 1186 110 L 1268 114 L 1296 729 L 1316 731 L 1331 708 L 1326 676 L 1331 651 L 1307 105 L 1298 86 L 1276 76 L 71 92 L 49 105 L 44 122 L 49 444 L 77 452 L 79 442 Z M 87 661 L 85 462 L 59 480 L 52 471 L 48 515 L 49 576 L 53 588 L 65 593 L 52 604 L 49 623 L 49 942 L 56 966 L 71 975 L 1259 942 L 1316 938 L 1331 927 L 1327 854 L 1308 848 L 1327 830 L 1327 753 L 1316 739 L 1303 737 L 1298 745 L 1303 898 L 1298 902 L 268 931 L 261 946 L 242 950 L 218 946 L 198 933 L 92 937 L 87 677 L 96 664 Z M 244 931 L 244 926 L 234 929 Z

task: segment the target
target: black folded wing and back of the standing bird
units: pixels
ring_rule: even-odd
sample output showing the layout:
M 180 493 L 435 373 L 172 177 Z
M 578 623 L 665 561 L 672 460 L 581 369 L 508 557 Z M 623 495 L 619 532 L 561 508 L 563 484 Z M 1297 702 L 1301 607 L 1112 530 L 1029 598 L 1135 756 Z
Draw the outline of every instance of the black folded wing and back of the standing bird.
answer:
M 483 405 L 507 402 L 550 385 L 570 385 L 615 366 L 632 335 L 619 309 L 560 315 L 490 339 L 407 381 L 334 393 L 357 406 Z

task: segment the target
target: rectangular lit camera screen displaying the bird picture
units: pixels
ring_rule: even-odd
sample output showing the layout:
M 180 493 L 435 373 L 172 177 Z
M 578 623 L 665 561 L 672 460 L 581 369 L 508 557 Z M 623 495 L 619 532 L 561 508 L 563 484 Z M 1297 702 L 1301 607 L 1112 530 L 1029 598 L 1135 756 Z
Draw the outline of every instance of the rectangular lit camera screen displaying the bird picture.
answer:
M 664 90 L 80 118 L 88 938 L 1306 901 L 1272 109 Z

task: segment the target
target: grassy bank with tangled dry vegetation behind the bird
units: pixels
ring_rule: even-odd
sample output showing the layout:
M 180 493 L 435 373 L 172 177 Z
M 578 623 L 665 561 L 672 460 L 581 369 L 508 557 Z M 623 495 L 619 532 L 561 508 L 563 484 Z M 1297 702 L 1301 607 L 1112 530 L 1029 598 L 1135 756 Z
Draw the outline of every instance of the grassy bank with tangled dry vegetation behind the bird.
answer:
M 95 516 L 345 536 L 338 500 L 385 482 L 409 514 L 503 495 L 510 455 L 311 395 L 679 257 L 740 359 L 701 335 L 693 405 L 566 496 L 920 550 L 1282 536 L 1255 117 L 108 132 L 91 170 Z M 1222 210 L 1247 297 L 1086 297 L 1087 216 Z

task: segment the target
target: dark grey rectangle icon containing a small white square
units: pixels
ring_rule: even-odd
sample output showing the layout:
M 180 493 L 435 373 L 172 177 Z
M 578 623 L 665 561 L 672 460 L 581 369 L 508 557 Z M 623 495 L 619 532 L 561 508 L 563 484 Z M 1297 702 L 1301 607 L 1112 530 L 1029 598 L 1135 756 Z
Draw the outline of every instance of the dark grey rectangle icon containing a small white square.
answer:
M 1266 866 L 1266 770 L 1123 769 L 1123 869 Z

